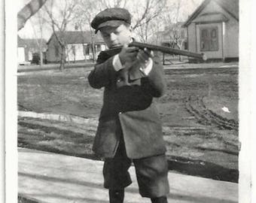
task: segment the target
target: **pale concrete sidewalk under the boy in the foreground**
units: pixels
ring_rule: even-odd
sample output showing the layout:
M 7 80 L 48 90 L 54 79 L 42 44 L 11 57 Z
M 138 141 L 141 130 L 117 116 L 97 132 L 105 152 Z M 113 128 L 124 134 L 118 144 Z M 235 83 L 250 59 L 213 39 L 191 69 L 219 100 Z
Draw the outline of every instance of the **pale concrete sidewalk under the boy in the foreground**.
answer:
M 19 148 L 19 195 L 38 202 L 107 203 L 102 186 L 103 162 Z M 136 174 L 126 188 L 126 203 L 150 203 L 138 192 Z M 169 203 L 238 202 L 238 184 L 169 172 Z

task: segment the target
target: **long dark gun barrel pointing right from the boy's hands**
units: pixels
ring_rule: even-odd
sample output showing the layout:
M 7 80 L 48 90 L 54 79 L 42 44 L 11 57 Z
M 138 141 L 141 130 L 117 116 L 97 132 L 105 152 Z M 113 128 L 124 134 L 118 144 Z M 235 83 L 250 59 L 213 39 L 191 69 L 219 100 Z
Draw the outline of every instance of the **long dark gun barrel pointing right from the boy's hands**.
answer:
M 203 59 L 206 61 L 207 57 L 204 53 L 194 53 L 186 50 L 178 50 L 178 49 L 173 49 L 170 47 L 163 47 L 163 46 L 158 46 L 154 44 L 145 44 L 137 41 L 133 41 L 132 43 L 129 44 L 129 47 L 139 47 L 140 49 L 148 48 L 149 50 L 158 50 L 163 53 L 169 53 L 169 54 L 175 54 L 175 55 L 182 55 L 182 56 L 190 56 L 198 59 Z

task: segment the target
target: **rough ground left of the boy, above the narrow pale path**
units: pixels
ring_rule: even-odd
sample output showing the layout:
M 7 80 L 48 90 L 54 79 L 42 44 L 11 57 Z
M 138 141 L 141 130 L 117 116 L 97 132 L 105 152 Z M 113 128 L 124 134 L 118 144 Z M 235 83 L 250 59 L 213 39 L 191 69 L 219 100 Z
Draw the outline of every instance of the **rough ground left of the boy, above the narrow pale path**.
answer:
M 83 71 L 84 70 L 84 71 Z M 35 73 L 18 77 L 18 104 L 36 112 L 96 117 L 102 90 L 90 88 L 86 69 Z

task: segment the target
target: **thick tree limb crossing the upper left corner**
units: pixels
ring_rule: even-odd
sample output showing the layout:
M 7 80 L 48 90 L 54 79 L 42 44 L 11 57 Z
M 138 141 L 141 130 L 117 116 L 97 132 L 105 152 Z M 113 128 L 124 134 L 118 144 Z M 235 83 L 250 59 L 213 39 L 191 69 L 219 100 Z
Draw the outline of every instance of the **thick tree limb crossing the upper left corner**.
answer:
M 25 5 L 17 14 L 17 29 L 20 30 L 25 26 L 27 20 L 32 17 L 47 0 L 32 0 Z

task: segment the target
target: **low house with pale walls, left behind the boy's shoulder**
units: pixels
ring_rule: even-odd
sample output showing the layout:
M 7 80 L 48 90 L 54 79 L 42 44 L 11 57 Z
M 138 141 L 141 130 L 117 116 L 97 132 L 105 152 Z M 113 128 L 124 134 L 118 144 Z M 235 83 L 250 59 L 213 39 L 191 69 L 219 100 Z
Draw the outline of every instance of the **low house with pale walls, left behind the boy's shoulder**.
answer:
M 100 51 L 105 50 L 105 43 L 100 35 L 95 35 L 92 43 L 91 32 L 67 31 L 56 32 L 56 35 L 66 44 L 65 58 L 66 62 L 84 61 L 93 59 L 93 44 L 96 56 Z M 61 47 L 53 33 L 47 41 L 47 62 L 59 62 L 61 56 Z M 95 57 L 96 57 L 95 56 Z

